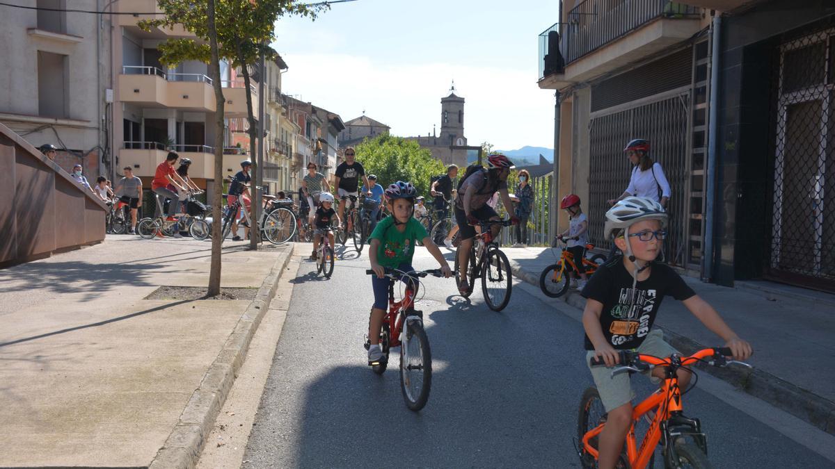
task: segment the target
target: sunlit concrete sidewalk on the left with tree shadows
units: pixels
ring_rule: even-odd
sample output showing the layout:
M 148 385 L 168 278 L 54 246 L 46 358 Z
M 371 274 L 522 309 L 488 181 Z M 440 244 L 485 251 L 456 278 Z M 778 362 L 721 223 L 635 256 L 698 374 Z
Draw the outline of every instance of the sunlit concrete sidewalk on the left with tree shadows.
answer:
M 145 299 L 208 284 L 210 242 L 189 238 L 109 235 L 0 270 L 0 466 L 171 466 L 199 451 L 292 252 L 246 245 L 224 245 L 221 285 L 247 300 Z

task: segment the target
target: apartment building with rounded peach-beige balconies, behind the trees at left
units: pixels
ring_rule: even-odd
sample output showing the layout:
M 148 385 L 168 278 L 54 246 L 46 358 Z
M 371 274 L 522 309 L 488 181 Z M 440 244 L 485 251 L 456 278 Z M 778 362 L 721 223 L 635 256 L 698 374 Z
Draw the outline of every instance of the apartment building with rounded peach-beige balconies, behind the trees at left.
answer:
M 154 0 L 119 0 L 121 12 L 162 12 Z M 159 44 L 170 38 L 190 38 L 184 28 L 139 28 L 145 15 L 115 18 L 111 62 L 115 105 L 113 141 L 117 167 L 130 165 L 146 187 L 154 169 L 170 150 L 191 159 L 189 175 L 201 188 L 214 181 L 215 93 L 205 63 L 189 61 L 175 67 L 160 63 Z M 243 78 L 223 61 L 220 80 L 226 100 L 224 119 L 245 120 L 246 93 Z M 253 112 L 258 114 L 257 88 L 251 85 Z M 229 123 L 229 120 L 227 120 Z M 231 126 L 231 124 L 229 124 Z M 226 139 L 226 145 L 232 144 Z M 240 170 L 240 162 L 251 158 L 237 149 L 224 152 L 224 177 Z

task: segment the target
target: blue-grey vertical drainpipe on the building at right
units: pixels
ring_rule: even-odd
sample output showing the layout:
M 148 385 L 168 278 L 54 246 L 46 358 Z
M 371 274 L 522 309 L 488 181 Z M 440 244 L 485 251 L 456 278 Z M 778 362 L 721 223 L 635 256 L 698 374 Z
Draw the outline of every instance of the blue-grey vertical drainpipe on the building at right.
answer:
M 707 179 L 705 189 L 705 245 L 701 280 L 713 280 L 713 225 L 716 223 L 716 152 L 719 149 L 716 114 L 719 107 L 719 38 L 721 13 L 714 13 L 711 25 L 711 98 L 707 129 Z

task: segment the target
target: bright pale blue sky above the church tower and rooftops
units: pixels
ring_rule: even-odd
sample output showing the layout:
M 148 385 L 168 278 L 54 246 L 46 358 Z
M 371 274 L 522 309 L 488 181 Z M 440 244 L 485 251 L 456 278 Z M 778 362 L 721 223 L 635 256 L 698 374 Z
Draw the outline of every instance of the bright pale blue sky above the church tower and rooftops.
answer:
M 466 99 L 464 136 L 495 149 L 552 148 L 554 91 L 539 89 L 539 33 L 559 0 L 357 0 L 316 21 L 276 23 L 282 92 L 338 113 L 363 110 L 400 136 L 440 132 L 441 98 Z

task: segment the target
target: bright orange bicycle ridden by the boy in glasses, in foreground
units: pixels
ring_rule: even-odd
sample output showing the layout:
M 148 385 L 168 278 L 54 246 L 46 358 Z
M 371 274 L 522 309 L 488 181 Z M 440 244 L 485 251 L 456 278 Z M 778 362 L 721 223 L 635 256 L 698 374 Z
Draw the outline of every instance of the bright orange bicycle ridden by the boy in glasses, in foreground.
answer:
M 727 366 L 736 363 L 742 366 L 750 365 L 741 361 L 727 360 L 731 356 L 731 349 L 716 347 L 699 350 L 691 356 L 673 354 L 669 358 L 643 355 L 631 350 L 620 350 L 620 366 L 612 369 L 612 376 L 620 373 L 634 373 L 648 371 L 655 366 L 663 366 L 664 381 L 660 388 L 640 402 L 632 411 L 632 425 L 626 434 L 624 449 L 620 453 L 616 467 L 643 469 L 653 466 L 655 446 L 660 443 L 666 468 L 694 467 L 697 469 L 711 467 L 707 460 L 707 441 L 701 431 L 701 423 L 697 418 L 690 418 L 682 413 L 681 397 L 687 391 L 681 392 L 678 386 L 676 371 L 679 368 L 693 373 L 696 381 L 698 376 L 688 366 L 696 362 L 711 366 Z M 602 366 L 603 360 L 597 357 L 591 359 L 591 366 Z M 690 389 L 693 388 L 691 386 Z M 655 415 L 653 415 L 653 413 Z M 644 417 L 650 427 L 640 442 L 640 449 L 635 439 L 635 423 Z M 579 458 L 582 466 L 592 469 L 597 466 L 597 437 L 606 425 L 606 413 L 600 402 L 597 388 L 590 387 L 583 393 L 583 400 L 579 405 L 577 419 L 577 435 L 579 441 Z

